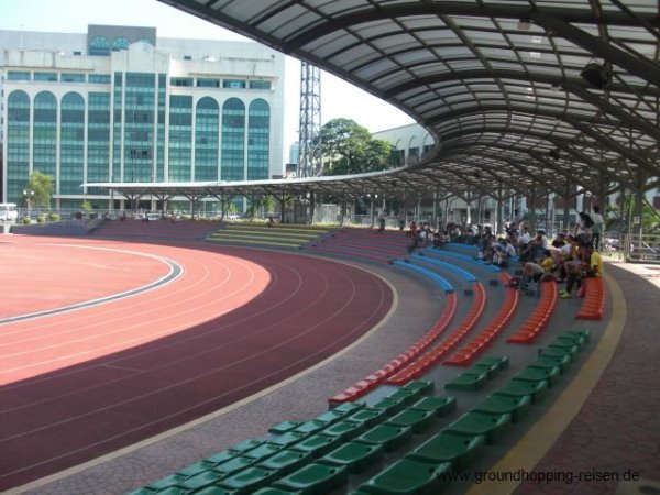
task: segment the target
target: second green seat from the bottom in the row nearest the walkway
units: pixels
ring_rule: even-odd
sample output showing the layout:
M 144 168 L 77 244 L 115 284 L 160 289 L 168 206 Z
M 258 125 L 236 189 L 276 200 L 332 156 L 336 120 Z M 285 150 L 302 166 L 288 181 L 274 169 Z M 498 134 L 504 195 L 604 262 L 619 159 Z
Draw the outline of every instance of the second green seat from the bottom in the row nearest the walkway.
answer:
M 485 444 L 486 437 L 483 435 L 469 437 L 441 430 L 406 458 L 429 464 L 451 462 L 453 471 L 464 471 L 481 459 Z

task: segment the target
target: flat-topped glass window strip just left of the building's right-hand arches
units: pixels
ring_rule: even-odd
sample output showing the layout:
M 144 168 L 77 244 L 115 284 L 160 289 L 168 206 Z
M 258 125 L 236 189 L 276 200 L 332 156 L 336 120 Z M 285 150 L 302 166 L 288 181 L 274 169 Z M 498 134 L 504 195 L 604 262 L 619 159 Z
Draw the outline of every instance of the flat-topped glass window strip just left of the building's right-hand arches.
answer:
M 173 95 L 169 98 L 169 180 L 191 180 L 193 164 L 193 97 Z

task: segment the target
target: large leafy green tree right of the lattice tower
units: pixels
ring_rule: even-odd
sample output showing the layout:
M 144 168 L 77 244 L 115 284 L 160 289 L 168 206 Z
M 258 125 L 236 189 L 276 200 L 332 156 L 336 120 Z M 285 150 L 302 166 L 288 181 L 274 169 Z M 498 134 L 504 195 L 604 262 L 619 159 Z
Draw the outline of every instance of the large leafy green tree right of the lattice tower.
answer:
M 374 140 L 369 129 L 351 119 L 333 119 L 321 128 L 321 154 L 326 175 L 384 170 L 394 162 L 394 146 Z

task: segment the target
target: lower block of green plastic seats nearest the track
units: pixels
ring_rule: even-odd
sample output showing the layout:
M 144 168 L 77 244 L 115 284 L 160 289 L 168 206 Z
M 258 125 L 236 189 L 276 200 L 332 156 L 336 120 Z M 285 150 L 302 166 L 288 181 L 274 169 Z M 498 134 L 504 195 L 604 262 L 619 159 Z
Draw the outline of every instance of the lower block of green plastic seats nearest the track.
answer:
M 373 406 L 344 404 L 309 421 L 282 421 L 130 495 L 328 493 L 384 452 L 455 409 L 455 398 L 429 396 L 433 382 L 398 388 Z

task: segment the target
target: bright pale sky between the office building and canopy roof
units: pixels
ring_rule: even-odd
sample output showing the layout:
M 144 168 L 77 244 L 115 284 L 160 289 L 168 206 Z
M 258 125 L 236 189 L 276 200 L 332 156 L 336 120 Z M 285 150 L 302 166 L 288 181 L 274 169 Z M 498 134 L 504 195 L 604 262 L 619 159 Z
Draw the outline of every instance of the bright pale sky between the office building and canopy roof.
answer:
M 156 28 L 162 37 L 248 40 L 157 0 L 0 0 L 0 30 L 86 33 L 88 24 Z M 284 145 L 288 150 L 298 136 L 300 62 L 287 56 L 285 70 Z M 321 123 L 336 118 L 353 119 L 371 132 L 414 122 L 395 107 L 322 72 Z

